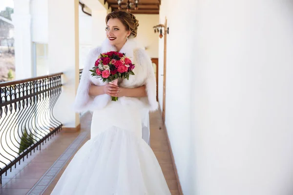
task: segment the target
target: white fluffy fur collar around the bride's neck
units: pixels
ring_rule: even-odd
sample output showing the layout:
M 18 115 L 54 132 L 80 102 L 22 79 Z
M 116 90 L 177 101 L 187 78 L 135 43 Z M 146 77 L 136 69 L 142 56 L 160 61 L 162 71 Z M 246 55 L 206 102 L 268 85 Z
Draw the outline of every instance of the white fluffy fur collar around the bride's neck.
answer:
M 129 38 L 126 43 L 121 48 L 120 53 L 125 53 L 127 58 L 133 58 L 134 54 L 133 51 L 135 49 L 139 48 L 137 39 L 136 38 Z M 109 39 L 105 39 L 102 43 L 102 52 L 109 52 L 109 51 L 117 51 L 116 47 L 114 45 L 111 45 L 109 43 Z

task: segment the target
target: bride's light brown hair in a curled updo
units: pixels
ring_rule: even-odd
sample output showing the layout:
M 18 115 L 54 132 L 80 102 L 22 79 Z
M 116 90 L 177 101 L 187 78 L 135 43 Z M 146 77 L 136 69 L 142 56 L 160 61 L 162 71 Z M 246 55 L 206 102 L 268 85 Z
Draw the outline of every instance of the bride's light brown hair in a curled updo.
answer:
M 108 23 L 108 20 L 115 18 L 119 19 L 123 23 L 127 31 L 131 32 L 130 36 L 132 35 L 133 37 L 136 37 L 139 23 L 133 14 L 125 11 L 112 12 L 106 16 L 106 23 Z

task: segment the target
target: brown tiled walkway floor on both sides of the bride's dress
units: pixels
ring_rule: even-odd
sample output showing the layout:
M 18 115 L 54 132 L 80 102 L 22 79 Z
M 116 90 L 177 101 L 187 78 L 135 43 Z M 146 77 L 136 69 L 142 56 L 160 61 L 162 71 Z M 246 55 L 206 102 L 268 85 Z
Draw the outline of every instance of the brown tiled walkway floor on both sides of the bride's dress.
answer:
M 60 161 L 59 157 L 67 148 L 72 146 L 72 143 L 76 138 L 80 137 L 81 134 L 86 135 L 79 147 L 76 148 L 77 150 L 90 138 L 90 134 L 85 134 L 85 132 L 89 132 L 90 119 L 90 113 L 86 113 L 81 120 L 82 130 L 80 132 L 59 133 L 59 135 L 55 136 L 52 140 L 42 146 L 41 152 L 36 152 L 33 156 L 25 159 L 22 166 L 18 167 L 17 170 L 13 170 L 12 173 L 9 172 L 7 176 L 3 176 L 3 184 L 0 185 L 0 195 L 26 195 L 28 192 L 33 194 L 33 189 L 37 189 L 37 187 L 40 187 L 38 185 L 42 185 L 40 182 L 41 178 L 44 179 L 43 175 L 48 174 L 47 171 L 52 169 L 53 166 L 56 166 L 55 161 Z M 176 176 L 167 144 L 167 135 L 159 112 L 150 114 L 150 131 L 150 145 L 161 165 L 171 194 L 179 195 Z M 72 154 L 75 154 L 75 152 Z M 72 157 L 73 155 L 69 157 L 69 160 L 63 167 L 58 169 L 59 173 L 57 171 L 57 176 L 55 178 L 54 176 L 52 177 L 53 181 L 46 188 L 43 195 L 50 195 Z M 41 191 L 43 190 L 40 190 L 40 192 Z

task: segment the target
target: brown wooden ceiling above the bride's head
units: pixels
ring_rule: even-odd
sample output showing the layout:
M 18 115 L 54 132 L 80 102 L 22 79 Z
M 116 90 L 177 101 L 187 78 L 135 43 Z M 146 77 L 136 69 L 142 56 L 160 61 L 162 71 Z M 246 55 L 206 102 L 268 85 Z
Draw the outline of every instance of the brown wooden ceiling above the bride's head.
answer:
M 129 0 L 132 2 L 131 13 L 132 14 L 159 14 L 161 0 L 139 0 L 138 10 L 134 10 L 135 0 Z M 112 11 L 118 11 L 117 0 L 104 0 L 104 3 L 108 3 L 108 7 L 112 8 Z M 122 0 L 122 10 L 126 10 L 127 0 Z

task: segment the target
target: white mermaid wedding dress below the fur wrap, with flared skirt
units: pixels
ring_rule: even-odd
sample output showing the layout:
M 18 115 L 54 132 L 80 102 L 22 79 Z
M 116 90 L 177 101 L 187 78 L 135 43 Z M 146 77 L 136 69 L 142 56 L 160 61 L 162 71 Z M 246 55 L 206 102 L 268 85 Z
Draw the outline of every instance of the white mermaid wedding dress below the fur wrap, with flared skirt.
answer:
M 90 140 L 51 195 L 171 195 L 156 156 L 142 138 L 139 107 L 118 100 L 94 111 Z

